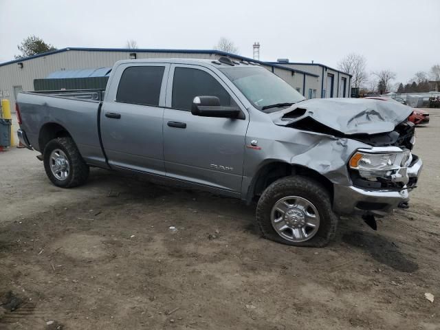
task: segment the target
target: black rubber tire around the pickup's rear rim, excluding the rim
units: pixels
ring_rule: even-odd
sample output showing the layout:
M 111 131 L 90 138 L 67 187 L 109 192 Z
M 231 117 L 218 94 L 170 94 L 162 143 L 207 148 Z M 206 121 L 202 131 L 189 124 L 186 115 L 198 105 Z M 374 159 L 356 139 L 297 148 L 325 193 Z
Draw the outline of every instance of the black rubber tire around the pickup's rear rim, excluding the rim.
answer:
M 63 180 L 55 177 L 50 168 L 50 155 L 52 151 L 60 149 L 67 157 L 69 163 L 69 174 Z M 58 137 L 48 142 L 43 152 L 44 169 L 47 177 L 55 186 L 61 188 L 72 188 L 85 184 L 89 177 L 89 166 L 81 157 L 78 148 L 72 137 Z

